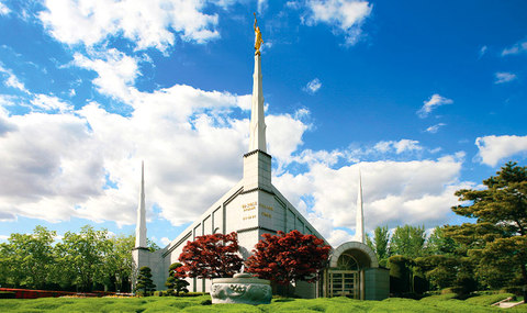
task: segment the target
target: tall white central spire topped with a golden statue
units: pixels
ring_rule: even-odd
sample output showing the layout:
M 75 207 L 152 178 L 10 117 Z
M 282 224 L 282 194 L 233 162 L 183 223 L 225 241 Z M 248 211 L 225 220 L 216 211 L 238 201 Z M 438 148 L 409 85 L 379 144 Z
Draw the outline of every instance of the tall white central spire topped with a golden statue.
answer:
M 255 72 L 253 75 L 253 105 L 250 109 L 250 143 L 249 152 L 261 150 L 267 153 L 266 121 L 264 116 L 264 90 L 261 87 L 261 40 L 260 27 L 255 14 Z

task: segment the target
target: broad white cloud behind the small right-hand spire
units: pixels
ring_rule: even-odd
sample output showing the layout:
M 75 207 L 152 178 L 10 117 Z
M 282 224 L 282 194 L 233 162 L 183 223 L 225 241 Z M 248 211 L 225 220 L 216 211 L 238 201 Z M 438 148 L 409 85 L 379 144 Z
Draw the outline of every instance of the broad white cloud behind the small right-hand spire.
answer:
M 360 163 L 366 230 L 403 224 L 444 223 L 457 203 L 453 192 L 473 183 L 460 182 L 463 153 L 436 160 Z M 304 174 L 284 174 L 273 183 L 296 208 L 306 208 L 310 221 L 332 244 L 355 230 L 358 165 L 333 169 L 319 163 Z M 306 201 L 305 198 L 312 198 Z M 312 208 L 310 208 L 312 202 Z

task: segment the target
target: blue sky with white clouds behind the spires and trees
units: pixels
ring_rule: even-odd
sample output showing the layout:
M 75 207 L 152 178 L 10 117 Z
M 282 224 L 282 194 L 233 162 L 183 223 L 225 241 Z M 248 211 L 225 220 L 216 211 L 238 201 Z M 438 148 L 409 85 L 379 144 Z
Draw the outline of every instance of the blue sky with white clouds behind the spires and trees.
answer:
M 242 178 L 253 12 L 273 183 L 333 244 L 462 220 L 527 157 L 525 1 L 0 0 L 0 239 L 42 224 L 173 239 Z

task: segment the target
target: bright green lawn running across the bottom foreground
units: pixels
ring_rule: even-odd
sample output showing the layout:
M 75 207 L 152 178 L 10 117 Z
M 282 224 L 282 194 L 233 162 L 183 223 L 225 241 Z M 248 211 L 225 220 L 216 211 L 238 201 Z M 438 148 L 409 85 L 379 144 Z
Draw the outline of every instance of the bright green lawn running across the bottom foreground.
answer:
M 495 295 L 493 295 L 495 297 Z M 506 295 L 505 295 L 506 297 Z M 497 297 L 501 298 L 501 297 Z M 2 299 L 0 312 L 498 312 L 503 309 L 485 305 L 494 301 L 489 295 L 470 301 L 450 297 L 428 297 L 423 300 L 392 298 L 384 301 L 358 301 L 347 298 L 332 299 L 273 299 L 271 304 L 206 304 L 209 295 L 195 298 L 43 298 L 35 300 Z M 500 299 L 498 299 L 500 300 Z M 498 301 L 496 300 L 496 301 Z M 506 312 L 527 312 L 527 305 Z

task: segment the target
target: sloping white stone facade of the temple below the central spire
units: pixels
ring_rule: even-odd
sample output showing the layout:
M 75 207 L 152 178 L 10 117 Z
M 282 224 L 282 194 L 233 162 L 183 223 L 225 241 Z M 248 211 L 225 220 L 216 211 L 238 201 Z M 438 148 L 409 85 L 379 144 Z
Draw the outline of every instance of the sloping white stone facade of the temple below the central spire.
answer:
M 134 259 L 139 260 L 137 268 L 141 266 L 152 268 L 154 283 L 162 290 L 168 278 L 169 266 L 178 261 L 187 242 L 194 241 L 197 236 L 236 232 L 239 251 L 246 259 L 262 234 L 292 230 L 322 238 L 311 223 L 273 186 L 271 186 L 271 192 L 261 189 L 246 192 L 242 180 L 168 246 L 155 253 L 134 249 L 133 256 Z M 190 291 L 210 291 L 211 280 L 189 279 L 189 282 Z M 306 287 L 302 289 L 307 290 L 310 295 L 315 294 L 314 286 L 313 290 Z

